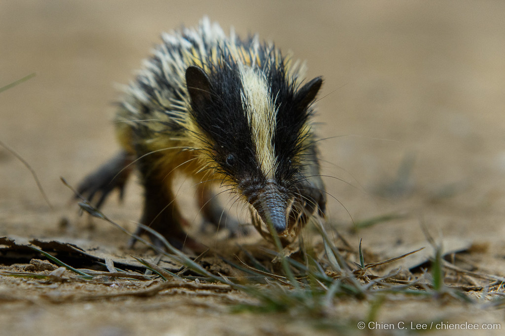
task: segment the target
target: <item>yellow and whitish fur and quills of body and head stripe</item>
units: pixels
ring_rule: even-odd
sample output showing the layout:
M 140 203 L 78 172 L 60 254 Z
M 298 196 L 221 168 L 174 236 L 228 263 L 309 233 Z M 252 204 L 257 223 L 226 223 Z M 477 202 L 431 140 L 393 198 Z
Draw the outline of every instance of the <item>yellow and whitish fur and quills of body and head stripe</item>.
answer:
M 185 100 L 174 100 L 169 92 L 157 92 L 158 101 L 163 105 L 159 108 L 158 105 L 153 106 L 153 101 L 145 96 L 143 90 L 135 85 L 131 85 L 126 91 L 127 100 L 125 101 L 125 108 L 121 109 L 116 116 L 117 124 L 117 137 L 122 147 L 129 153 L 134 153 L 134 142 L 140 141 L 144 148 L 151 152 L 160 152 L 163 155 L 157 155 L 159 161 L 153 162 L 156 164 L 160 172 L 166 175 L 162 179 L 170 180 L 174 172 L 180 171 L 181 173 L 189 176 L 194 176 L 198 181 L 201 179 L 215 179 L 217 181 L 224 179 L 224 176 L 217 173 L 215 168 L 216 162 L 211 158 L 209 148 L 206 148 L 206 143 L 210 139 L 205 139 L 205 132 L 197 126 L 196 122 L 192 120 L 190 110 L 190 101 L 188 98 L 187 87 L 185 83 L 185 71 L 188 66 L 195 65 L 203 69 L 206 73 L 210 72 L 209 65 L 222 67 L 225 66 L 218 59 L 218 48 L 226 48 L 229 50 L 231 57 L 239 64 L 242 80 L 244 83 L 244 92 L 242 93 L 242 101 L 246 117 L 254 129 L 256 150 L 259 155 L 258 159 L 261 164 L 261 169 L 267 178 L 272 178 L 275 172 L 276 159 L 274 148 L 271 146 L 273 130 L 275 130 L 275 114 L 273 103 L 269 101 L 269 92 L 266 79 L 259 71 L 255 71 L 256 66 L 262 66 L 257 53 L 260 47 L 260 42 L 257 36 L 254 36 L 251 48 L 244 48 L 237 46 L 233 41 L 235 40 L 235 33 L 232 30 L 230 37 L 227 38 L 224 32 L 217 25 L 212 25 L 210 21 L 205 18 L 200 23 L 200 31 L 205 31 L 212 46 L 209 51 L 203 47 L 203 41 L 199 46 L 194 46 L 187 43 L 180 32 L 173 32 L 172 34 L 164 34 L 162 37 L 168 44 L 179 44 L 182 57 L 173 57 L 167 51 L 167 45 L 161 44 L 159 50 L 155 50 L 161 62 L 162 68 L 165 72 L 165 77 L 172 80 L 172 85 L 176 86 L 185 97 Z M 192 34 L 194 38 L 203 39 L 203 35 L 194 30 L 185 31 L 186 34 Z M 207 41 L 207 43 L 209 43 Z M 272 58 L 270 62 L 273 64 L 281 64 L 284 62 L 286 69 L 286 76 L 292 80 L 297 81 L 298 78 L 305 77 L 305 65 L 299 62 L 292 62 L 291 55 L 288 53 L 287 57 L 282 60 L 282 55 L 273 44 L 269 44 L 268 48 L 271 51 Z M 150 72 L 151 65 L 149 61 L 145 63 L 146 71 L 142 71 L 142 75 L 152 83 L 155 87 L 153 73 Z M 167 96 L 163 96 L 166 94 Z M 142 114 L 142 106 L 144 103 L 149 106 L 150 117 L 155 121 L 138 121 L 141 123 L 149 123 L 148 129 L 150 131 L 148 136 L 142 139 L 134 139 L 132 134 L 131 122 L 132 119 L 143 120 L 145 116 Z M 164 112 L 164 109 L 170 109 L 171 115 L 177 118 L 170 117 Z M 177 134 L 167 134 L 164 129 L 164 123 L 178 123 L 184 131 Z M 308 132 L 305 130 L 304 132 Z M 197 136 L 195 136 L 197 135 Z

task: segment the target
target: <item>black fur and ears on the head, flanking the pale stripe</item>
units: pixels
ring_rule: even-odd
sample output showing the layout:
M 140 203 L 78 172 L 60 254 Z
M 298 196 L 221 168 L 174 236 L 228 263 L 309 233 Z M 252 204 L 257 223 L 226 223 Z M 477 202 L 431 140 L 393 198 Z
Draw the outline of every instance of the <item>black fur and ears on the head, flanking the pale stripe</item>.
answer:
M 244 42 L 238 42 L 244 43 Z M 220 64 L 210 72 L 191 66 L 186 83 L 191 100 L 191 113 L 202 130 L 212 139 L 207 150 L 218 163 L 218 170 L 241 187 L 242 192 L 264 187 L 266 182 L 255 152 L 253 131 L 248 124 L 241 100 L 242 83 L 238 66 L 226 49 L 219 49 Z M 270 99 L 277 109 L 273 146 L 278 161 L 274 176 L 279 186 L 294 193 L 292 184 L 300 179 L 302 150 L 300 137 L 312 115 L 310 103 L 319 91 L 322 79 L 317 77 L 301 88 L 288 78 L 284 60 L 274 61 L 270 47 L 259 50 L 260 66 L 270 86 Z M 310 132 L 309 132 L 310 134 Z M 233 163 L 228 158 L 232 157 Z

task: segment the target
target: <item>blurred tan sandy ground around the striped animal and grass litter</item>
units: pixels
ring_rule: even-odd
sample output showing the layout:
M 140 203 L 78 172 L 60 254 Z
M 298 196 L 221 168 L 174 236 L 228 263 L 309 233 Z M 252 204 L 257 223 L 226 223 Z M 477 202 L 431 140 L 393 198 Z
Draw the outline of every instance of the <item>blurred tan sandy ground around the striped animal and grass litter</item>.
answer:
M 505 3 L 491 1 L 0 1 L 0 86 L 36 73 L 0 93 L 0 140 L 31 164 L 54 205 L 48 208 L 28 170 L 0 147 L 0 236 L 124 247 L 126 237 L 114 228 L 95 223 L 90 230 L 77 216 L 60 176 L 75 185 L 118 149 L 110 122 L 115 83 L 133 77 L 160 32 L 208 15 L 226 29 L 274 40 L 307 60 L 310 77 L 324 76 L 317 121 L 328 138 L 321 142 L 327 190 L 338 200 L 329 199 L 327 220 L 351 244 L 363 238 L 383 254 L 428 246 L 423 223 L 440 240 L 480 246 L 475 262 L 505 275 L 503 13 Z M 395 179 L 400 188 L 391 188 Z M 194 218 L 191 194 L 181 198 Z M 133 228 L 140 211 L 135 183 L 125 205 L 114 200 L 104 210 Z M 391 213 L 404 216 L 349 231 L 352 220 Z M 69 221 L 65 230 L 61 218 Z M 230 314 L 229 298 L 55 305 L 37 299 L 35 284 L 22 292 L 29 300 L 6 299 L 17 285 L 0 277 L 2 334 L 313 332 L 289 316 Z M 377 318 L 505 328 L 503 311 L 480 307 L 389 302 Z M 338 309 L 340 318 L 358 321 L 370 307 L 342 302 Z

